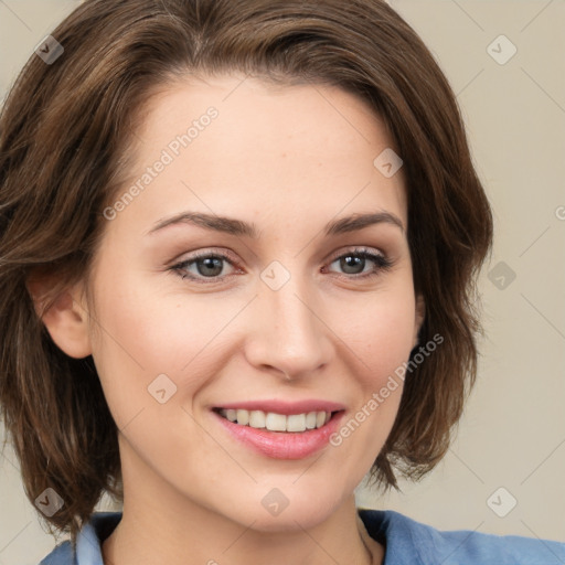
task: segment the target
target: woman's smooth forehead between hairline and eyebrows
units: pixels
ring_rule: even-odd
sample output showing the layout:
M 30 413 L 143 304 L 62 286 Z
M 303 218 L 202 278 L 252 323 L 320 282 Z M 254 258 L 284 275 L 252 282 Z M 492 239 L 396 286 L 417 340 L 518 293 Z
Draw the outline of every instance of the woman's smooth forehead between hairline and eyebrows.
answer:
M 366 103 L 340 88 L 190 77 L 152 96 L 138 118 L 122 192 L 136 182 L 142 192 L 119 220 L 143 232 L 184 209 L 262 228 L 262 215 L 326 224 L 341 211 L 379 210 L 406 225 L 402 169 L 386 178 L 374 164 L 393 140 Z M 139 182 L 159 161 L 167 164 Z

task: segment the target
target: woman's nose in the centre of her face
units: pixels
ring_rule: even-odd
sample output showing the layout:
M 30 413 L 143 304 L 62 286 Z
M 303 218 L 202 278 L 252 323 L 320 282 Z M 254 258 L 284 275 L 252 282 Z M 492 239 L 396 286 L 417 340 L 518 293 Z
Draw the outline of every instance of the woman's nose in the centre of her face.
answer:
M 274 290 L 262 281 L 250 310 L 245 349 L 252 365 L 290 381 L 329 363 L 334 334 L 324 323 L 324 307 L 312 284 L 291 276 Z

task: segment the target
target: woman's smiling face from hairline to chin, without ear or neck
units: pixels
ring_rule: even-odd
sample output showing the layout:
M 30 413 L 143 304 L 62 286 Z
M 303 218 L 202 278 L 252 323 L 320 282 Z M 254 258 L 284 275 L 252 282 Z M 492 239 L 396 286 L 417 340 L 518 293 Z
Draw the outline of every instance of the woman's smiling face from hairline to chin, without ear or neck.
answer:
M 392 142 L 364 103 L 242 81 L 151 99 L 122 203 L 105 212 L 89 339 L 126 501 L 308 527 L 351 499 L 398 409 L 399 380 L 371 399 L 422 321 L 406 194 L 402 169 L 373 162 Z M 211 218 L 159 227 L 181 214 Z M 342 222 L 364 214 L 384 221 Z M 257 426 L 322 427 L 257 431 L 245 407 Z

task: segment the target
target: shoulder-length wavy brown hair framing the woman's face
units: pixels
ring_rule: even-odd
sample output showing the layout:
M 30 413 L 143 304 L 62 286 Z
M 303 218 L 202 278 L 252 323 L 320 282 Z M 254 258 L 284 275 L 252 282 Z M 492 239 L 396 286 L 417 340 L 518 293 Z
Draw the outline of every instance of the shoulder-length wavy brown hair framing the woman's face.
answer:
M 64 498 L 50 527 L 74 542 L 100 494 L 122 490 L 92 355 L 65 355 L 41 317 L 88 280 L 142 104 L 188 74 L 334 85 L 384 119 L 404 161 L 419 340 L 444 341 L 407 373 L 371 476 L 390 488 L 433 469 L 476 379 L 492 217 L 455 95 L 415 31 L 380 0 L 86 0 L 52 35 L 63 54 L 32 55 L 0 116 L 0 405 L 28 498 Z M 40 312 L 32 275 L 53 276 Z

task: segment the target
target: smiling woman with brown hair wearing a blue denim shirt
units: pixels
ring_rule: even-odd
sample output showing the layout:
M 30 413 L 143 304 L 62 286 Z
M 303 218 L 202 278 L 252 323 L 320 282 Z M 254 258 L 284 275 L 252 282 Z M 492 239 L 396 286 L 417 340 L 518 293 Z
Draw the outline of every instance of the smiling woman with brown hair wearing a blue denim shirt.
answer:
M 492 239 L 388 6 L 87 0 L 0 131 L 0 399 L 71 533 L 43 564 L 565 559 L 355 508 L 445 455 Z

